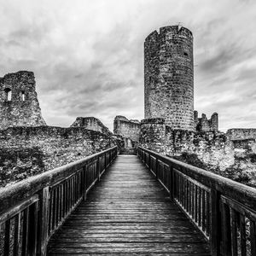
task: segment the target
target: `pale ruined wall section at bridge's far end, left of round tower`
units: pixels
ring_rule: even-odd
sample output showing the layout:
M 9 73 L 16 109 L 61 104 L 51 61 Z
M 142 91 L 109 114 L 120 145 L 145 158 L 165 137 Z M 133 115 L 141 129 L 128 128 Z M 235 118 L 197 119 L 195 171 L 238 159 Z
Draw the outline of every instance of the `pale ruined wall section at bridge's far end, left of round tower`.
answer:
M 118 115 L 113 120 L 113 133 L 123 138 L 130 138 L 133 142 L 139 141 L 141 124 L 136 119 L 126 119 Z

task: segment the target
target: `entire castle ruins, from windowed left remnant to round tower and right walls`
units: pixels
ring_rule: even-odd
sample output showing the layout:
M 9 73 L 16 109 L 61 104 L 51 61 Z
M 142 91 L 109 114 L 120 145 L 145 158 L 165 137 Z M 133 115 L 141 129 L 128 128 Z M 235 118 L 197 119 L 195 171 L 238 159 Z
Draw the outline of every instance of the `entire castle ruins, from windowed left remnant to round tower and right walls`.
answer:
M 170 156 L 195 154 L 220 170 L 234 164 L 236 148 L 256 152 L 256 129 L 224 134 L 218 131 L 218 113 L 207 119 L 195 111 L 193 35 L 185 27 L 161 27 L 145 39 L 144 119 L 117 115 L 113 133 L 94 117 L 78 117 L 68 128 L 46 125 L 35 86 L 32 72 L 0 78 L 0 145 L 7 151 L 37 148 L 45 170 L 116 144 Z

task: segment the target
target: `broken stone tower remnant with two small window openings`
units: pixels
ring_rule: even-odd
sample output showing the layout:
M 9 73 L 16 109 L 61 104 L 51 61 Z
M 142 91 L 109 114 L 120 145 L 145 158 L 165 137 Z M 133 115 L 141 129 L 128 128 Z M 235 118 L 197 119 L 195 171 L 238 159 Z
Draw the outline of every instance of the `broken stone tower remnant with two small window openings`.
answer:
M 19 71 L 0 78 L 0 129 L 46 125 L 39 107 L 34 73 Z

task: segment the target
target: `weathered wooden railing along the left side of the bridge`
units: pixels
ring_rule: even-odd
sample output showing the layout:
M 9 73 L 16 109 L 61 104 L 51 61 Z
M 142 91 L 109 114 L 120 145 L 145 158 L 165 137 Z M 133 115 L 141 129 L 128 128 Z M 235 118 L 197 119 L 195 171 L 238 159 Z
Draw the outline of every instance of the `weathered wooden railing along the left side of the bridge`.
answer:
M 49 237 L 100 180 L 117 147 L 0 189 L 0 254 L 45 255 Z

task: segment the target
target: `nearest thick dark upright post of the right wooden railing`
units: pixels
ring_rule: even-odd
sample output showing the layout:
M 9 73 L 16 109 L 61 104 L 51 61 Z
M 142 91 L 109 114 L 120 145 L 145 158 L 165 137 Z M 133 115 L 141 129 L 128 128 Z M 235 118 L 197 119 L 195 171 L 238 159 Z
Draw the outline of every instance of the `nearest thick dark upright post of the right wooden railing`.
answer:
M 210 232 L 210 241 L 211 241 L 211 255 L 218 256 L 220 255 L 220 234 L 221 234 L 221 218 L 220 218 L 220 195 L 219 192 L 215 189 L 211 190 L 211 232 Z

